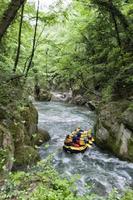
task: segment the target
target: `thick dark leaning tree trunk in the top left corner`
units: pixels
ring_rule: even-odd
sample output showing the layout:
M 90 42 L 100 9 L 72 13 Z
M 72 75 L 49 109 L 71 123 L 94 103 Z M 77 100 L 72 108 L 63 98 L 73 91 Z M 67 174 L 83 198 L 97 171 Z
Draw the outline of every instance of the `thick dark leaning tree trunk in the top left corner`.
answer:
M 25 1 L 26 0 L 11 0 L 7 10 L 3 14 L 3 18 L 0 21 L 0 41 L 10 24 L 13 22 L 17 11 L 25 3 Z

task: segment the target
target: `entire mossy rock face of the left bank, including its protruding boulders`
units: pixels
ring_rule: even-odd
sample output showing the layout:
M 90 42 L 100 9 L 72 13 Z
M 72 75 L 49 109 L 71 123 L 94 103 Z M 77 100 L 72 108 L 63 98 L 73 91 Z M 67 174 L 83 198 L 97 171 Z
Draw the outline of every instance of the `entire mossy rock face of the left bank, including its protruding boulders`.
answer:
M 32 103 L 13 110 L 11 118 L 5 116 L 0 121 L 1 174 L 35 163 L 39 160 L 36 144 L 50 138 L 46 131 L 38 130 L 38 113 Z

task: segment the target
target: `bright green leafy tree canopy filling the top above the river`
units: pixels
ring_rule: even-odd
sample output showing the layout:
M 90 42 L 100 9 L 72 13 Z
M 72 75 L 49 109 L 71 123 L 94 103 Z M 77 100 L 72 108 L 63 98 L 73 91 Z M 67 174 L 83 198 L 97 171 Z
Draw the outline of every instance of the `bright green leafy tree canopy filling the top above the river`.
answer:
M 4 10 L 7 1 L 1 5 Z M 51 11 L 40 11 L 31 82 L 37 77 L 43 88 L 52 86 L 52 89 L 66 90 L 79 87 L 88 92 L 90 88 L 96 89 L 103 95 L 103 100 L 110 100 L 112 96 L 123 98 L 123 94 L 130 96 L 133 84 L 132 3 L 116 0 L 113 6 L 129 25 L 127 32 L 115 16 L 121 46 L 110 11 L 106 6 L 99 6 L 97 0 L 73 1 L 67 8 L 59 1 L 53 4 Z M 23 72 L 31 53 L 35 13 L 34 4 L 26 4 L 18 73 Z M 2 71 L 13 69 L 19 20 L 18 15 L 1 46 Z M 124 91 L 127 89 L 126 93 L 122 92 L 123 88 Z

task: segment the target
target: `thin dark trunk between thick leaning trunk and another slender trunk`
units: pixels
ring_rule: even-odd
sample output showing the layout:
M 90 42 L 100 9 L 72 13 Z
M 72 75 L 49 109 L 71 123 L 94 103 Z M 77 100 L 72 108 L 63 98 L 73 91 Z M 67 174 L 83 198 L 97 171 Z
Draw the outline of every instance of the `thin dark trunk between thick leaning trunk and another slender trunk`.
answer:
M 24 4 L 22 5 L 21 10 L 21 19 L 20 19 L 20 26 L 19 26 L 19 35 L 18 35 L 18 48 L 17 48 L 17 55 L 14 63 L 14 69 L 13 72 L 16 72 L 19 56 L 20 56 L 20 47 L 21 47 L 21 32 L 22 32 L 22 24 L 23 24 L 23 15 L 24 15 Z

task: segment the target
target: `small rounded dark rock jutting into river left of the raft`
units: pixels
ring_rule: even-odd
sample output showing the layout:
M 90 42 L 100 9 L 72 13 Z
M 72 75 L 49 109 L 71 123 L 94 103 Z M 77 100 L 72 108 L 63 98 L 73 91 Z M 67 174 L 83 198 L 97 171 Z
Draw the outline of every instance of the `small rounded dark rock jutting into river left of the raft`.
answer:
M 40 146 L 44 142 L 47 142 L 48 140 L 50 140 L 50 135 L 47 131 L 43 129 L 39 129 L 37 133 L 34 135 L 32 140 L 33 140 L 33 144 Z

